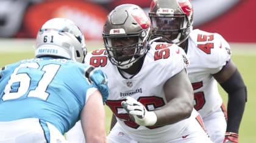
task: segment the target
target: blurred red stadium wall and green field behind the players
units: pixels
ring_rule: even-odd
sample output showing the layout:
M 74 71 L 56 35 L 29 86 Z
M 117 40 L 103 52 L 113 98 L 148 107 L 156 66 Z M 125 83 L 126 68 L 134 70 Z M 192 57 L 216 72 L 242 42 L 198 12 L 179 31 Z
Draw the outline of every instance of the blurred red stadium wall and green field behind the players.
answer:
M 248 101 L 240 125 L 241 143 L 256 142 L 256 17 L 254 0 L 191 0 L 194 28 L 221 34 L 232 48 L 232 60 L 247 85 Z M 88 51 L 102 48 L 102 26 L 108 12 L 119 4 L 140 5 L 149 12 L 151 0 L 1 0 L 0 67 L 34 58 L 35 36 L 40 26 L 51 18 L 74 21 L 83 31 Z M 219 89 L 224 104 L 227 94 Z M 106 132 L 112 113 L 108 107 Z

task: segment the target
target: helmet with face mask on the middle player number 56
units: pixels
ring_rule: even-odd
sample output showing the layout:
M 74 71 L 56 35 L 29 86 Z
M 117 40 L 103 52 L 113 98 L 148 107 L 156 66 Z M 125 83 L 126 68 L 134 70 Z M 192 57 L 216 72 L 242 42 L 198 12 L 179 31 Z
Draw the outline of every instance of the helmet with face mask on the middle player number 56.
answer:
M 110 62 L 122 69 L 132 66 L 134 62 L 148 52 L 150 35 L 151 21 L 142 8 L 133 4 L 123 4 L 116 7 L 107 16 L 102 33 Z M 126 46 L 113 46 L 112 41 L 125 38 L 135 39 L 135 43 Z M 132 53 L 120 54 L 118 51 Z

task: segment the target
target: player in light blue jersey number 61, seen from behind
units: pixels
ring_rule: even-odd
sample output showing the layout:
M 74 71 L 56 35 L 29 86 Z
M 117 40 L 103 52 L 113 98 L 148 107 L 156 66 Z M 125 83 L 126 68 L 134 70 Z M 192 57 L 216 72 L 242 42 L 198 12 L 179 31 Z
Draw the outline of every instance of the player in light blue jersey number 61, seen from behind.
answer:
M 0 142 L 66 142 L 80 119 L 88 142 L 107 142 L 107 76 L 83 61 L 84 35 L 54 18 L 39 30 L 35 59 L 0 70 Z

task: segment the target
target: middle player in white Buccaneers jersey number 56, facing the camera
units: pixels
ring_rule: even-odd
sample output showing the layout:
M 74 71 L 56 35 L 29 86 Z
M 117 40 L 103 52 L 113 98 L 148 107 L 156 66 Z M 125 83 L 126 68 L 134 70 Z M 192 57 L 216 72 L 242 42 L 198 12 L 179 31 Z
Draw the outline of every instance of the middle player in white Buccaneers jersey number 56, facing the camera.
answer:
M 185 52 L 151 43 L 150 35 L 151 21 L 140 7 L 119 5 L 104 25 L 105 48 L 85 58 L 108 75 L 106 104 L 117 120 L 108 142 L 212 142 L 193 109 Z

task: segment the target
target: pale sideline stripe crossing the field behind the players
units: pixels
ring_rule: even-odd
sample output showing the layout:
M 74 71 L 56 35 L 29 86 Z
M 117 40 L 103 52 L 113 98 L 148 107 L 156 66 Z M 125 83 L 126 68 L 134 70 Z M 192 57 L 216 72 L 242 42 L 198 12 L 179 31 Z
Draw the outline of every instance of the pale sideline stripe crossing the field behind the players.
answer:
M 102 48 L 103 41 L 86 41 L 87 50 L 90 52 L 93 47 Z M 236 43 L 230 42 L 232 55 L 256 55 L 256 43 Z M 0 38 L 0 52 L 1 53 L 26 53 L 34 52 L 35 39 L 1 39 Z

